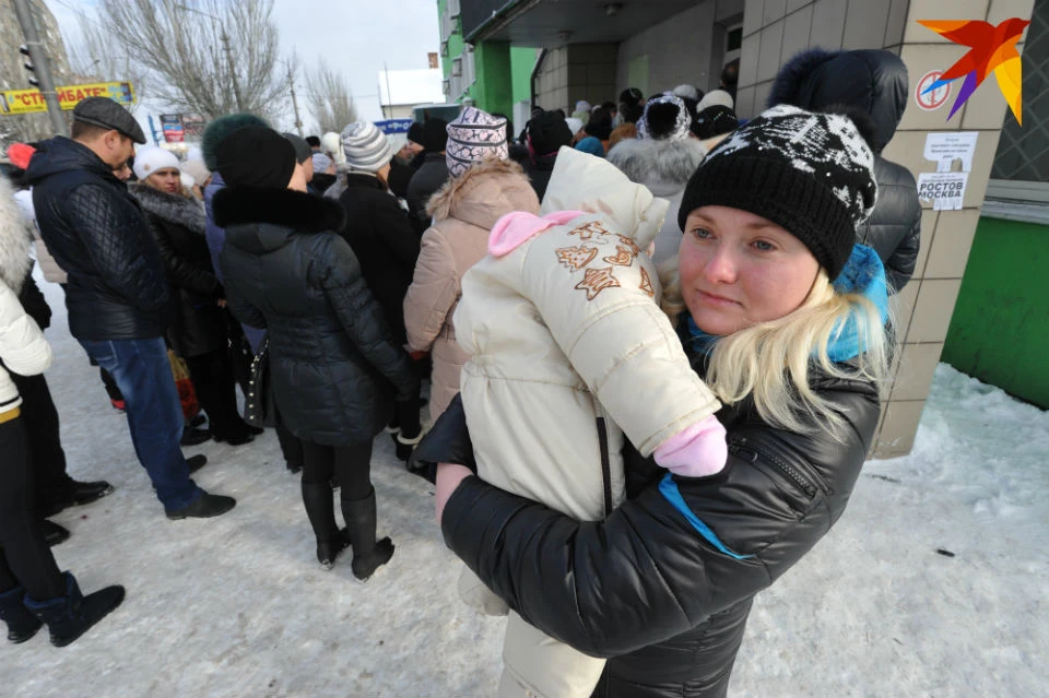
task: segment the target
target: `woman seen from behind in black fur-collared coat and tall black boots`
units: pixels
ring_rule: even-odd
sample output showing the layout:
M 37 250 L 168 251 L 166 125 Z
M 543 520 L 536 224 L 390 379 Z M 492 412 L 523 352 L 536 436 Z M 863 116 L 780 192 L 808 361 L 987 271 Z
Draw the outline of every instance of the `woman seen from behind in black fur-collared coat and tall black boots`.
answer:
M 342 208 L 306 193 L 291 143 L 270 129 L 241 129 L 222 141 L 219 162 L 226 188 L 213 211 L 226 229 L 220 261 L 229 308 L 267 329 L 276 409 L 303 441 L 303 501 L 317 558 L 330 567 L 346 544 L 335 527 L 334 472 L 353 573 L 367 579 L 393 555 L 390 539 L 375 540 L 372 440 L 394 398 L 417 400 L 419 379 L 338 235 Z

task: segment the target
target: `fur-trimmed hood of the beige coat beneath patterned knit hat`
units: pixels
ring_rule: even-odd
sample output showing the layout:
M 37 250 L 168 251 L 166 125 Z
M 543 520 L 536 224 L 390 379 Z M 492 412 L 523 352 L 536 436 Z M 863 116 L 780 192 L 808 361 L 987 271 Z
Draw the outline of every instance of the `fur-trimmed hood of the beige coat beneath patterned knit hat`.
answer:
M 539 198 L 521 166 L 510 159 L 485 159 L 446 181 L 429 199 L 434 222 L 458 218 L 482 228 L 511 211 L 539 211 Z

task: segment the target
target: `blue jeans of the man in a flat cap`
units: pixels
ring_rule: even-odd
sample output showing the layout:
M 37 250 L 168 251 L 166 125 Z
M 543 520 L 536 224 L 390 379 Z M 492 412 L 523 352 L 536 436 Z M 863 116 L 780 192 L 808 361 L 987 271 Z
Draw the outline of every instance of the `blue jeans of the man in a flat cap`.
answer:
M 164 340 L 80 341 L 113 375 L 127 403 L 131 443 L 165 509 L 181 509 L 203 490 L 189 477 L 182 457 L 182 409 Z

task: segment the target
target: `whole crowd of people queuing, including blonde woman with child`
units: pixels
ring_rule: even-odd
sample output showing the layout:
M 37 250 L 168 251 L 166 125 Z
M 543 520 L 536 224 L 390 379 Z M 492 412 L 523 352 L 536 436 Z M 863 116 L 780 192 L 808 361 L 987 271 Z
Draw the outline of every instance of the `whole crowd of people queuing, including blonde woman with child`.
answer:
M 399 149 L 368 121 L 302 139 L 235 114 L 180 162 L 103 97 L 69 138 L 13 147 L 9 639 L 46 624 L 67 644 L 123 599 L 83 595 L 49 549 L 68 532 L 47 516 L 113 487 L 66 473 L 35 237 L 168 519 L 236 505 L 182 446 L 273 428 L 318 563 L 350 551 L 366 581 L 394 554 L 370 478 L 386 433 L 436 483 L 463 600 L 508 616 L 500 696 L 726 695 L 754 595 L 848 502 L 920 240 L 914 178 L 880 155 L 896 56 L 805 52 L 749 120 L 736 71 L 535 107 L 520 132 L 468 106 Z

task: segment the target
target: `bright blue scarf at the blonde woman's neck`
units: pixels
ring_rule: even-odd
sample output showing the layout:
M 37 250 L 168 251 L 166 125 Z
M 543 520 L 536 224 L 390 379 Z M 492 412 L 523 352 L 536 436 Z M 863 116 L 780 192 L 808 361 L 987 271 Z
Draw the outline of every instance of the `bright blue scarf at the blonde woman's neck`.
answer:
M 849 261 L 837 279 L 834 280 L 834 288 L 838 293 L 859 293 L 864 298 L 874 304 L 882 317 L 882 322 L 888 321 L 888 287 L 885 285 L 885 268 L 877 252 L 865 245 L 854 245 Z M 715 344 L 721 339 L 716 334 L 708 334 L 700 330 L 692 316 L 686 313 L 686 324 L 688 339 L 685 341 L 685 350 L 709 354 L 714 351 Z M 838 323 L 834 332 L 830 333 L 830 342 L 827 344 L 827 356 L 832 362 L 840 363 L 856 358 L 867 351 L 867 346 L 860 342 L 859 331 L 856 324 L 854 315 L 850 315 L 848 320 Z

